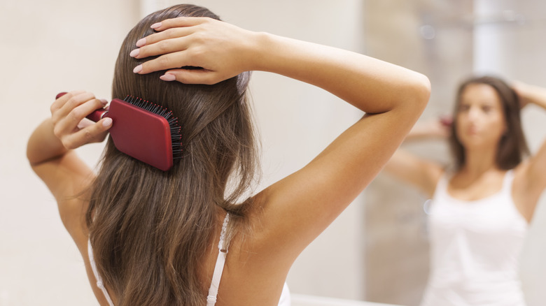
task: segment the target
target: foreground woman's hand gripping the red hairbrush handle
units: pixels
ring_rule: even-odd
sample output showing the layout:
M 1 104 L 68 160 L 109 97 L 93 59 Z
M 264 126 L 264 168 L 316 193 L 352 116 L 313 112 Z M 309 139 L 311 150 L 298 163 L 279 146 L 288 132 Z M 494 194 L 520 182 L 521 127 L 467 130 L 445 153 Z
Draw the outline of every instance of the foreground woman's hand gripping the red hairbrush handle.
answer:
M 51 105 L 53 134 L 67 150 L 87 143 L 100 143 L 112 126 L 111 118 L 92 122 L 85 119 L 94 110 L 103 108 L 106 100 L 99 100 L 90 92 L 75 91 L 59 97 Z

